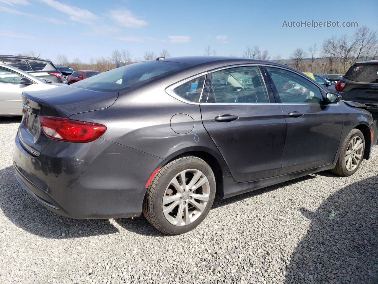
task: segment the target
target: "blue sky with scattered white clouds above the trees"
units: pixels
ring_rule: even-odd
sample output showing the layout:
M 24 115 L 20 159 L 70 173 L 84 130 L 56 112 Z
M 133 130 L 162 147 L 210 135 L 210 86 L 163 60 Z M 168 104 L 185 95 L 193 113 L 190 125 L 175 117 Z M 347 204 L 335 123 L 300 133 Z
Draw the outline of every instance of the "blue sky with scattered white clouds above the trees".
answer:
M 88 62 L 127 49 L 133 58 L 203 55 L 211 45 L 217 55 L 242 55 L 247 45 L 267 49 L 273 58 L 318 46 L 332 34 L 356 28 L 288 28 L 284 20 L 358 22 L 378 28 L 378 1 L 73 1 L 0 0 L 0 54 L 35 51 L 54 61 L 57 54 Z

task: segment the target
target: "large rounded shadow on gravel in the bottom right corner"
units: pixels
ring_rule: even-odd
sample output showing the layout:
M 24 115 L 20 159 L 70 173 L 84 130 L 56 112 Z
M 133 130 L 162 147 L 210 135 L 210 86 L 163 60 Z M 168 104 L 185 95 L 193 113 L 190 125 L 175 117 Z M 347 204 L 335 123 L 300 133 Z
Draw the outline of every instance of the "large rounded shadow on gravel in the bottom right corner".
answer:
M 285 283 L 378 283 L 378 176 L 325 200 L 291 255 Z

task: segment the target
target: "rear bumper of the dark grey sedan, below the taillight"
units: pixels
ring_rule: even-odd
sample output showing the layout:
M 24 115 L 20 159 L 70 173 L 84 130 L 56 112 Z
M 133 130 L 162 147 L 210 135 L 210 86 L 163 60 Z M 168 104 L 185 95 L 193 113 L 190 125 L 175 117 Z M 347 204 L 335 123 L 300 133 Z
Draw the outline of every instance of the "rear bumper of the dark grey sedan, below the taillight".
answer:
M 15 139 L 15 175 L 47 209 L 71 218 L 141 215 L 144 184 L 163 159 L 105 139 L 90 143 L 51 140 L 35 157 Z

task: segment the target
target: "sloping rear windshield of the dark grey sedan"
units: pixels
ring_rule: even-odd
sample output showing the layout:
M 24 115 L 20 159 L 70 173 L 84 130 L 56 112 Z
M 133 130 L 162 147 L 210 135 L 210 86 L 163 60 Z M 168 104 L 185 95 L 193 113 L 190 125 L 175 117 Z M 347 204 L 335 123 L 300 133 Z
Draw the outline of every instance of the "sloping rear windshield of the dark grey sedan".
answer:
M 120 91 L 140 86 L 189 66 L 177 62 L 144 61 L 109 70 L 73 83 L 72 86 L 93 91 Z

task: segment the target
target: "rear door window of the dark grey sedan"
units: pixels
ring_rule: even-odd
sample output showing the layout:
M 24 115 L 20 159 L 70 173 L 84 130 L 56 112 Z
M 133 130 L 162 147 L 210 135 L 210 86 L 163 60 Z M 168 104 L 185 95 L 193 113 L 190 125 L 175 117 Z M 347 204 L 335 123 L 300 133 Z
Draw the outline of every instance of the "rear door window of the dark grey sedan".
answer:
M 235 67 L 212 73 L 207 103 L 268 103 L 257 66 Z

